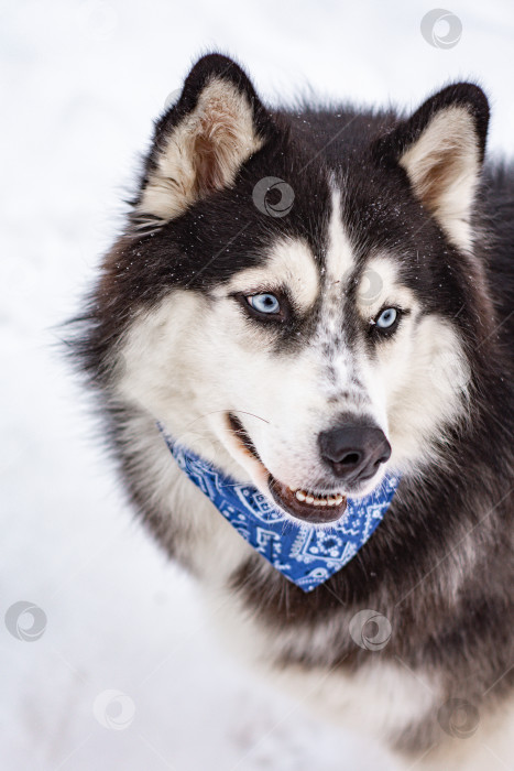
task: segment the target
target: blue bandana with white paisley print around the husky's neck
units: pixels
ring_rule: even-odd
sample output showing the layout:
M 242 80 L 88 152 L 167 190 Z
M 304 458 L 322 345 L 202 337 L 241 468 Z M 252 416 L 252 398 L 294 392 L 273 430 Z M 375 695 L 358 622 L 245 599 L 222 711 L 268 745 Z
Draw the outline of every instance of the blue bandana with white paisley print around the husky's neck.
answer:
M 254 487 L 226 476 L 157 426 L 189 479 L 259 554 L 304 591 L 350 562 L 382 521 L 400 482 L 398 476 L 389 476 L 365 498 L 348 499 L 347 510 L 332 525 L 296 523 Z

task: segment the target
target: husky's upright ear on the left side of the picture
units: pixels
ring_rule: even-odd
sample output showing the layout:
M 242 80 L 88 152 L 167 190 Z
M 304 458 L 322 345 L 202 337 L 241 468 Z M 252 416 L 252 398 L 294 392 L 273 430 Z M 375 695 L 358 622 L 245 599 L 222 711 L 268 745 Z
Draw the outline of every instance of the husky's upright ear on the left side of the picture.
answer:
M 230 186 L 273 130 L 241 67 L 219 54 L 204 56 L 155 127 L 134 219 L 168 221 Z

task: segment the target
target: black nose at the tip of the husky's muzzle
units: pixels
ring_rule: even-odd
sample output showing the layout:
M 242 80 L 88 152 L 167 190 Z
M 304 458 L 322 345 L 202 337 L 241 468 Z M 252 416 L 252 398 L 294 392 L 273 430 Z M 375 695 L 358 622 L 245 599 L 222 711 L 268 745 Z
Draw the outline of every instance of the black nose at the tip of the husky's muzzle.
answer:
M 345 481 L 364 481 L 391 457 L 391 445 L 376 426 L 352 423 L 322 431 L 318 437 L 321 457 Z

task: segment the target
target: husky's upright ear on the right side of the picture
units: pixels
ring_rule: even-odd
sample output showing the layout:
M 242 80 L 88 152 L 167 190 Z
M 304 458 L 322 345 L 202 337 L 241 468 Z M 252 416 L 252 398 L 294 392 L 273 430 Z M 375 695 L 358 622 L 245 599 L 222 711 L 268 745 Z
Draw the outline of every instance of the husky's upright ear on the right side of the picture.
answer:
M 460 249 L 472 246 L 470 218 L 485 151 L 489 104 L 469 83 L 449 86 L 379 140 L 415 195 Z

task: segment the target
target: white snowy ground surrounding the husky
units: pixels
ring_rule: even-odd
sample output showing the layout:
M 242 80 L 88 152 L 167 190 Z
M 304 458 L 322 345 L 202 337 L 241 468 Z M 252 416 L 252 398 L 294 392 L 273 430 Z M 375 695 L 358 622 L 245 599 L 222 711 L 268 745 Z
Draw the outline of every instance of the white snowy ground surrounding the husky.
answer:
M 151 119 L 206 50 L 239 57 L 270 99 L 310 83 L 415 106 L 475 77 L 493 102 L 491 146 L 512 152 L 513 6 L 452 2 L 462 36 L 449 50 L 423 39 L 428 10 L 0 2 L 0 612 L 26 600 L 46 618 L 37 640 L 18 639 L 26 612 L 18 632 L 15 611 L 0 628 L 2 771 L 385 769 L 369 742 L 313 723 L 211 638 L 195 586 L 133 522 L 52 346 L 112 237 Z

